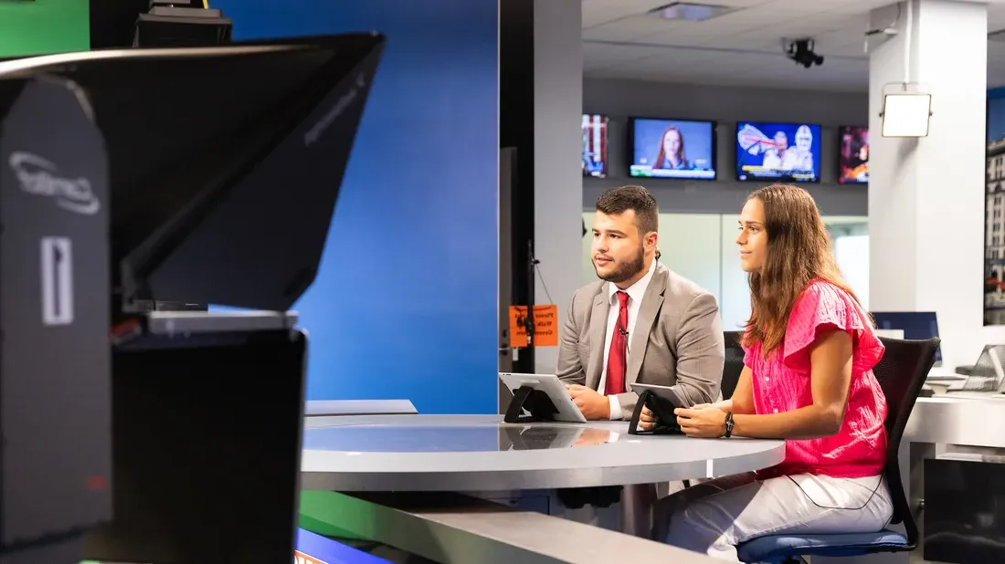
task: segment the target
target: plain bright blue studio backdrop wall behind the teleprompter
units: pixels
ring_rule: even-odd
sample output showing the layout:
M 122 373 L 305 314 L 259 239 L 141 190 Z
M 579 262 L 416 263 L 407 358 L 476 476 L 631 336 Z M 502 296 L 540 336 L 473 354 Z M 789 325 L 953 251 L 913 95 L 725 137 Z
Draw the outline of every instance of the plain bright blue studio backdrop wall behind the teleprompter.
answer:
M 210 6 L 234 39 L 387 36 L 317 280 L 295 305 L 308 398 L 496 412 L 496 0 Z

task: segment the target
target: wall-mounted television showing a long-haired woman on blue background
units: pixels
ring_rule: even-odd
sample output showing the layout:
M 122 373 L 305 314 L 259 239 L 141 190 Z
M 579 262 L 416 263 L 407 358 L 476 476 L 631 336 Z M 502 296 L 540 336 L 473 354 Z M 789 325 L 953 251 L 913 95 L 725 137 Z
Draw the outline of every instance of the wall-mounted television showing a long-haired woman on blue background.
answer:
M 716 180 L 716 122 L 632 117 L 632 177 Z

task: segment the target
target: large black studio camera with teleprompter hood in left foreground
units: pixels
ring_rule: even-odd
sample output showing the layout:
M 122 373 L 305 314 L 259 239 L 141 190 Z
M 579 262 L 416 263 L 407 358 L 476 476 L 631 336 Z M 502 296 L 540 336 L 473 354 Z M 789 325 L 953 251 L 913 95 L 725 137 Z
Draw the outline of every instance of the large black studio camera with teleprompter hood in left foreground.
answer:
M 299 298 L 383 43 L 0 63 L 3 541 L 75 538 L 114 507 L 85 556 L 289 561 L 306 338 L 158 333 L 140 304 L 285 312 Z

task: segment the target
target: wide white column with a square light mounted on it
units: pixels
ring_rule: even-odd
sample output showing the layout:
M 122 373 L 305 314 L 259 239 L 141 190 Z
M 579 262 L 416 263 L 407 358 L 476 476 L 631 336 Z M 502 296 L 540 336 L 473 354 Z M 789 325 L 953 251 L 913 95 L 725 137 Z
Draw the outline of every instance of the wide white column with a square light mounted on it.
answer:
M 910 29 L 906 22 L 911 18 Z M 908 0 L 875 10 L 869 41 L 869 308 L 935 311 L 944 366 L 973 364 L 1005 336 L 984 327 L 987 6 Z M 932 93 L 929 135 L 880 135 L 883 88 Z

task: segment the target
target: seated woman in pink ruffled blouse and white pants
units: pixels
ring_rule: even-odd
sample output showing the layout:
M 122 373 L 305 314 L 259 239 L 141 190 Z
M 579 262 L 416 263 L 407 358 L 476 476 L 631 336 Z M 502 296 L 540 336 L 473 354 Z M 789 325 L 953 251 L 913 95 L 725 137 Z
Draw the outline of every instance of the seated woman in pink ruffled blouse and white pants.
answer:
M 765 535 L 881 530 L 892 514 L 886 399 L 872 374 L 883 346 L 841 279 L 816 204 L 795 186 L 758 190 L 737 244 L 753 311 L 743 373 L 732 398 L 677 409 L 677 420 L 688 437 L 784 439 L 785 460 L 665 498 L 656 530 L 733 562 L 736 545 Z

